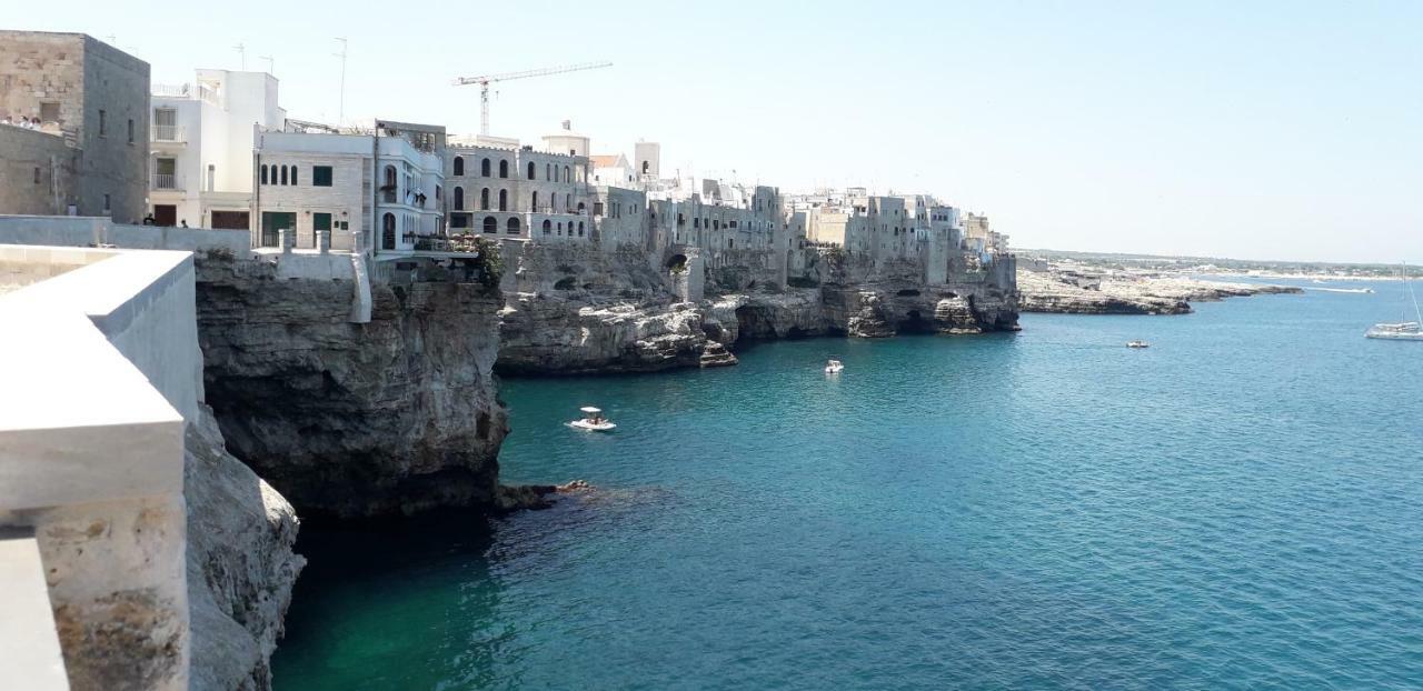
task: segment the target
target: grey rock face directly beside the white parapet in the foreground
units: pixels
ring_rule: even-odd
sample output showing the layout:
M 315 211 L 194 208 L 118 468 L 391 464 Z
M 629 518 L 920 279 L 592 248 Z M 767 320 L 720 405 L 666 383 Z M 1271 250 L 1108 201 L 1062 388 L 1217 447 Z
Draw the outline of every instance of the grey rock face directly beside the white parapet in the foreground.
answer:
M 184 446 L 191 688 L 268 690 L 268 663 L 306 563 L 292 552 L 296 513 L 228 454 L 206 408 Z

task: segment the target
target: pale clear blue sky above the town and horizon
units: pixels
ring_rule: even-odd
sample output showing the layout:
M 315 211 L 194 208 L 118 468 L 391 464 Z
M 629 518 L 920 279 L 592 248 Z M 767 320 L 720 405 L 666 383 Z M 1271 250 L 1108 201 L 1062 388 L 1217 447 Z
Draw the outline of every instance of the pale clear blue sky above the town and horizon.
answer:
M 564 119 L 595 154 L 787 191 L 929 192 L 1019 247 L 1423 263 L 1423 3 L 4 3 L 147 60 L 268 70 L 289 115 Z M 236 45 L 243 45 L 239 53 Z M 266 60 L 266 58 L 270 58 Z

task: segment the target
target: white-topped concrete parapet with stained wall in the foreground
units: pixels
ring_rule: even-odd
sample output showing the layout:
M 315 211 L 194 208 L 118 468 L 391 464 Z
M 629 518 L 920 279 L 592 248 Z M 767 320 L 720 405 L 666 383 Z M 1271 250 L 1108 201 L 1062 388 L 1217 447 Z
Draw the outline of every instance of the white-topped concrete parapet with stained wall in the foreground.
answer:
M 73 267 L 0 297 L 0 324 L 23 334 L 0 338 L 0 360 L 23 364 L 0 392 L 0 526 L 36 536 L 70 685 L 186 688 L 192 256 L 0 247 L 17 253 Z

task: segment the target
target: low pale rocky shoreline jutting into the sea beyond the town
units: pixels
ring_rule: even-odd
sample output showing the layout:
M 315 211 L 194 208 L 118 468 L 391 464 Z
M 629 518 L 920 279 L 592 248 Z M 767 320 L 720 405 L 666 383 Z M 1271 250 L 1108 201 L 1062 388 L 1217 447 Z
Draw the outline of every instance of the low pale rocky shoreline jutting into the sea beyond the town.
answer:
M 1187 314 L 1191 301 L 1269 293 L 1301 293 L 1292 286 L 1224 283 L 1110 269 L 1047 266 L 1017 272 L 1023 311 L 1060 314 Z

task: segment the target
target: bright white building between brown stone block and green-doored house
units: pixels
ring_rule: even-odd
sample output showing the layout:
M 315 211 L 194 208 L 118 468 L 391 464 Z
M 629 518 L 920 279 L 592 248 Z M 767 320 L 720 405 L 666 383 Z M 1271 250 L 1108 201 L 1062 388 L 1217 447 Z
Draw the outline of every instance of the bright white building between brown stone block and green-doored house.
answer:
M 246 229 L 253 125 L 282 129 L 277 80 L 198 70 L 189 84 L 152 88 L 148 202 L 161 226 Z

